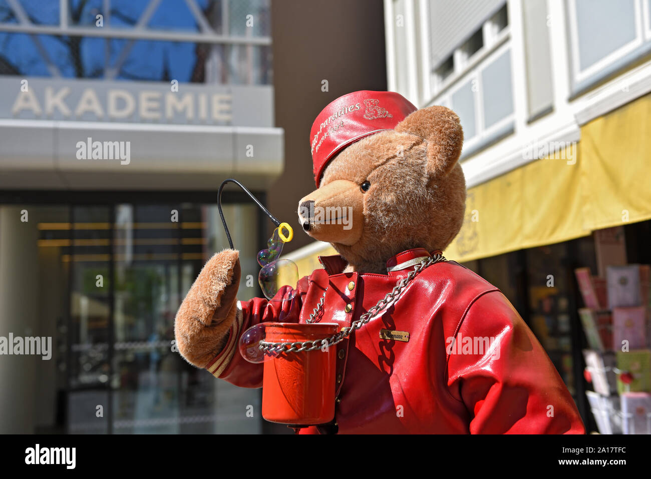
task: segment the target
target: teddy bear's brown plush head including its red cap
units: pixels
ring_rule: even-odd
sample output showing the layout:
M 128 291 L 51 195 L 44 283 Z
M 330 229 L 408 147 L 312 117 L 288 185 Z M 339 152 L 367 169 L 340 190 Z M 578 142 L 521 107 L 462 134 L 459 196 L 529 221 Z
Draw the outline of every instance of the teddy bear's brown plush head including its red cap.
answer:
M 393 92 L 354 92 L 322 111 L 311 141 L 318 188 L 299 201 L 299 221 L 333 245 L 348 271 L 385 274 L 391 256 L 443 251 L 459 232 L 463 132 L 450 109 L 417 110 Z

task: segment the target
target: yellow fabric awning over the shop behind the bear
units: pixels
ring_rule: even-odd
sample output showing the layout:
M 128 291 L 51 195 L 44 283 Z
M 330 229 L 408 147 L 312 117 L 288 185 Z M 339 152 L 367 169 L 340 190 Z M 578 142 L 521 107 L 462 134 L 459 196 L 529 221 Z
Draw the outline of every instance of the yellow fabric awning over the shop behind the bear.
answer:
M 583 126 L 577 145 L 469 189 L 445 256 L 465 262 L 650 219 L 650 132 L 651 94 Z

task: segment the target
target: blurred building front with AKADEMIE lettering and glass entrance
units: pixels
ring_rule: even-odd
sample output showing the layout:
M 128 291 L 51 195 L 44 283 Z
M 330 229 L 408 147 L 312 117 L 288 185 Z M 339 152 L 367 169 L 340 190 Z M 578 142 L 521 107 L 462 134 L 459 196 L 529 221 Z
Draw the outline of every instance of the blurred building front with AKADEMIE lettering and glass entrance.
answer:
M 176 352 L 174 316 L 227 247 L 216 189 L 283 171 L 268 0 L 0 2 L 0 431 L 259 433 L 260 390 Z M 223 194 L 259 295 L 267 226 Z M 249 279 L 249 281 L 247 281 Z M 251 414 L 251 411 L 256 411 Z

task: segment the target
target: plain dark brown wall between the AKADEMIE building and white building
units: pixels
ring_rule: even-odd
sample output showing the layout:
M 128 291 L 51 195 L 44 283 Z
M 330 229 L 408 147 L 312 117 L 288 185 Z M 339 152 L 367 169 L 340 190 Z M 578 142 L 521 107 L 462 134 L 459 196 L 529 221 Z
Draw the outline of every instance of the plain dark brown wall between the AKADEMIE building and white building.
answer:
M 285 169 L 268 203 L 278 219 L 298 228 L 288 253 L 312 241 L 296 210 L 315 188 L 309 148 L 314 118 L 346 93 L 387 89 L 382 1 L 272 0 L 271 35 L 275 126 L 285 132 Z

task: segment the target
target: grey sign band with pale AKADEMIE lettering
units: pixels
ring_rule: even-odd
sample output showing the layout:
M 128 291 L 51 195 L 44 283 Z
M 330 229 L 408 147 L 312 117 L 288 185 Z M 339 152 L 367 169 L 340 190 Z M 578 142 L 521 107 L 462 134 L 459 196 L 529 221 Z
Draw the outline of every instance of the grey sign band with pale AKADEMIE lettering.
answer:
M 0 118 L 273 126 L 273 87 L 0 75 Z

